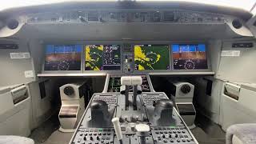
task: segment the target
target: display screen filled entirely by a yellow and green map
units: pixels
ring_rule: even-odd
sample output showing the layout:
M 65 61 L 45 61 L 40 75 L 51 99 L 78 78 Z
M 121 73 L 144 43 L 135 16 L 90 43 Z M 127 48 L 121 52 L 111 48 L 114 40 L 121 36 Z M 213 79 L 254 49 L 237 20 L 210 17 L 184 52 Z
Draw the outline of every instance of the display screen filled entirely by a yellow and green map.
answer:
M 135 70 L 170 70 L 168 45 L 135 45 Z

